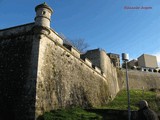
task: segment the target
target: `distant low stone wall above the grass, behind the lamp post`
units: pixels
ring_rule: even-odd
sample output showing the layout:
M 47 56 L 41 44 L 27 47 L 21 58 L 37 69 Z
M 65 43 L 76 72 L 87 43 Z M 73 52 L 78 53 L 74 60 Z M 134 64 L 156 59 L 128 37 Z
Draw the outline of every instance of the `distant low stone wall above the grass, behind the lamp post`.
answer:
M 126 81 L 125 70 L 122 70 L 122 79 Z M 160 73 L 128 70 L 130 89 L 160 89 Z M 125 84 L 124 84 L 124 87 Z

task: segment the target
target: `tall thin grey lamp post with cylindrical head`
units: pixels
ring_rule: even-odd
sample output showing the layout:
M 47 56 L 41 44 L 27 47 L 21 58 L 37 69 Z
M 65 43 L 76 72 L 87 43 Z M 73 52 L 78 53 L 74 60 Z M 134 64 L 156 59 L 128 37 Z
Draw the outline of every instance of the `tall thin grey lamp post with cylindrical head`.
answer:
M 127 98 L 128 98 L 128 120 L 131 119 L 131 108 L 130 108 L 130 93 L 129 93 L 129 84 L 128 84 L 128 68 L 127 68 L 127 62 L 129 60 L 129 55 L 126 53 L 122 53 L 122 60 L 125 63 L 126 67 L 126 87 L 127 87 Z

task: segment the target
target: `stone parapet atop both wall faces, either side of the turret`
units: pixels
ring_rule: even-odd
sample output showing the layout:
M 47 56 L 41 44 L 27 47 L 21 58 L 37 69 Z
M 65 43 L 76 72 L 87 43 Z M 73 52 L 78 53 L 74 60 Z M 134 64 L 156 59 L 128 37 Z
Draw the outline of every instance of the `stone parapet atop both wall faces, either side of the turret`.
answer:
M 8 39 L 11 36 L 20 36 L 20 35 L 23 36 L 23 35 L 26 35 L 26 34 L 31 35 L 31 34 L 33 34 L 32 32 L 33 32 L 34 26 L 35 26 L 35 23 L 33 22 L 33 23 L 28 23 L 28 24 L 24 24 L 24 25 L 15 26 L 15 27 L 0 30 L 0 38 Z M 71 45 L 64 44 L 63 39 L 53 29 L 50 28 L 49 30 L 50 30 L 50 33 L 48 35 L 43 34 L 43 36 L 48 37 L 56 45 L 59 45 L 60 47 L 65 49 L 65 51 L 68 51 L 74 57 L 76 57 L 81 62 L 86 64 L 88 67 L 92 68 L 92 70 L 94 70 L 96 73 L 98 73 L 102 77 L 106 78 L 106 75 L 104 73 L 102 73 L 102 70 L 99 67 L 94 66 L 94 64 L 88 58 L 84 57 L 75 47 L 73 47 Z M 38 34 L 38 33 L 36 33 L 36 34 Z M 39 34 L 42 34 L 42 33 L 39 33 Z

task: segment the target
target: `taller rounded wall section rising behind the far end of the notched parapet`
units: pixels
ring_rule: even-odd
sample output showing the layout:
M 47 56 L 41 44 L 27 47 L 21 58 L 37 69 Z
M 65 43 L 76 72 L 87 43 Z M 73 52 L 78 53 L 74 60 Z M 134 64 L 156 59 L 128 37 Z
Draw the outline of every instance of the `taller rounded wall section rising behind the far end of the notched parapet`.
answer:
M 82 56 L 82 58 L 84 57 L 91 60 L 93 65 L 98 66 L 106 75 L 109 82 L 109 91 L 112 93 L 112 98 L 114 98 L 120 90 L 119 82 L 121 81 L 117 78 L 117 69 L 111 63 L 106 52 L 102 49 L 89 50 Z

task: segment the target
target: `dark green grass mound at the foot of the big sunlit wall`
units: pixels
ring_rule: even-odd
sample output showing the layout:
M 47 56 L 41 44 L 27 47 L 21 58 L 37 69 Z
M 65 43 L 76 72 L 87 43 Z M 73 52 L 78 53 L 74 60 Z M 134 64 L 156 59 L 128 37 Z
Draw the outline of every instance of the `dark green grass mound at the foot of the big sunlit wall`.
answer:
M 59 109 L 45 112 L 37 120 L 101 120 L 95 113 L 87 112 L 81 108 Z

